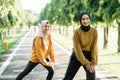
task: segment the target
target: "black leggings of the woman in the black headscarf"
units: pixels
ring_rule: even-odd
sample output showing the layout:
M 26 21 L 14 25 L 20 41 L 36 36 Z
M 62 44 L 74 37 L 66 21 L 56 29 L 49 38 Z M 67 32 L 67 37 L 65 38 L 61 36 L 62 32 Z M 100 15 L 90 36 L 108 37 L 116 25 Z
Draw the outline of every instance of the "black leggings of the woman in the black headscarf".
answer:
M 90 61 L 91 60 L 91 53 L 88 51 L 83 51 L 84 56 Z M 77 73 L 78 69 L 82 66 L 82 64 L 77 60 L 75 53 L 73 51 L 70 62 L 63 80 L 73 80 L 75 74 Z M 95 80 L 95 72 L 90 73 L 85 66 L 83 66 L 86 72 L 86 80 Z

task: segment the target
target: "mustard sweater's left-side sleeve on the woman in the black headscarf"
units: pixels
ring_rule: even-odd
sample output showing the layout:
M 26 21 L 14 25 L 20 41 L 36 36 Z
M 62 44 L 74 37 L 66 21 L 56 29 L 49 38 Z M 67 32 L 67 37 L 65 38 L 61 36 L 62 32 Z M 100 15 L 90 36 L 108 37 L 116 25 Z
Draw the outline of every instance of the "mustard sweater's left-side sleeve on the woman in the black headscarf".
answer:
M 76 55 L 78 61 L 80 61 L 83 65 L 89 64 L 90 62 L 83 55 L 79 38 L 80 38 L 80 34 L 76 30 L 74 32 L 74 36 L 73 36 L 73 47 L 74 47 L 75 55 Z

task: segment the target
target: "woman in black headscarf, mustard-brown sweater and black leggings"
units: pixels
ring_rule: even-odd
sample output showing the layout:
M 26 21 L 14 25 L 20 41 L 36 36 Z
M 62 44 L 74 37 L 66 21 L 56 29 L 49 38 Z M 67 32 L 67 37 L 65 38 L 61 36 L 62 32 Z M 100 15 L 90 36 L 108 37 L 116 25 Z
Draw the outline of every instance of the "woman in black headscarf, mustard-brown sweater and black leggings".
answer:
M 63 80 L 73 80 L 78 69 L 83 66 L 86 80 L 95 80 L 95 65 L 98 62 L 97 30 L 90 26 L 90 16 L 80 15 L 80 28 L 73 35 L 73 52 Z

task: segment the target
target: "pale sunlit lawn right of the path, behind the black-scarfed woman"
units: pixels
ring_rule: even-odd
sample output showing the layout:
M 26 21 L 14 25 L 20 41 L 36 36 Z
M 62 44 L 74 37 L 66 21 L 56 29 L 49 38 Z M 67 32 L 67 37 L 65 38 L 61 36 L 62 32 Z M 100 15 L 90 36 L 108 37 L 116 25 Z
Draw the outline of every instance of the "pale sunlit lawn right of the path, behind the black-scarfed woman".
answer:
M 115 29 L 109 30 L 109 36 L 113 36 L 112 38 L 109 37 L 108 42 L 108 49 L 103 50 L 103 30 L 100 30 L 98 35 L 98 45 L 99 45 L 99 61 L 98 66 L 110 71 L 111 73 L 115 74 L 120 78 L 120 53 L 116 53 L 117 50 L 117 38 L 114 35 L 117 35 L 117 31 Z M 54 31 L 52 33 L 52 38 L 63 45 L 65 48 L 72 50 L 73 44 L 72 44 L 72 36 L 71 37 L 65 37 L 63 35 L 60 35 L 58 31 Z

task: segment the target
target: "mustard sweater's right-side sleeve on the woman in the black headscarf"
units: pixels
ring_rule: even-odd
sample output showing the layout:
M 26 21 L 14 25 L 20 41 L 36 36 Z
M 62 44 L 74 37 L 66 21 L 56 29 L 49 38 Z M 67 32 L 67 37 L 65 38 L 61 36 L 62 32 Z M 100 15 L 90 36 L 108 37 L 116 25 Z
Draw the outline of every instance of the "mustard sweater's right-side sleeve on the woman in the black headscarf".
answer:
M 92 57 L 92 64 L 96 65 L 98 62 L 98 33 L 97 30 L 94 30 L 93 41 L 91 46 L 91 57 Z

